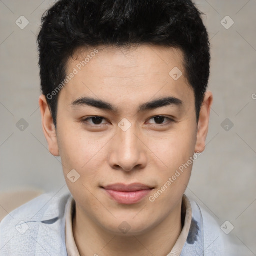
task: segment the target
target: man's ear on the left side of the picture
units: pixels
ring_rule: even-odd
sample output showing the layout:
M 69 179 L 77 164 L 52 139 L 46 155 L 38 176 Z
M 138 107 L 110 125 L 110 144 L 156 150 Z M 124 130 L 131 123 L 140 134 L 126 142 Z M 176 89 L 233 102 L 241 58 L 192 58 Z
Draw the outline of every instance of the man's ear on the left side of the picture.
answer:
M 39 96 L 39 106 L 41 111 L 42 129 L 48 143 L 49 152 L 54 156 L 59 156 L 55 125 L 45 95 L 43 94 Z

